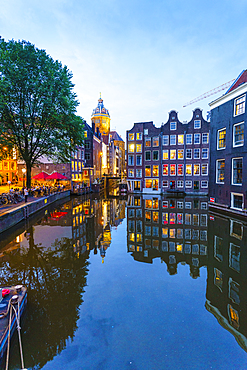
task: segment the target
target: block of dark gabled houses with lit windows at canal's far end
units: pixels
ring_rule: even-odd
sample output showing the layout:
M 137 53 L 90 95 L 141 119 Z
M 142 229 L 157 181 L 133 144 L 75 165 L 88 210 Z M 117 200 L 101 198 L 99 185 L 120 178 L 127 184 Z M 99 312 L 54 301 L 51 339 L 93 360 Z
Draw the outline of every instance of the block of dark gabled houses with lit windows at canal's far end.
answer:
M 209 122 L 195 109 L 189 122 L 176 111 L 166 124 L 135 123 L 127 131 L 127 180 L 130 192 L 181 191 L 208 194 Z

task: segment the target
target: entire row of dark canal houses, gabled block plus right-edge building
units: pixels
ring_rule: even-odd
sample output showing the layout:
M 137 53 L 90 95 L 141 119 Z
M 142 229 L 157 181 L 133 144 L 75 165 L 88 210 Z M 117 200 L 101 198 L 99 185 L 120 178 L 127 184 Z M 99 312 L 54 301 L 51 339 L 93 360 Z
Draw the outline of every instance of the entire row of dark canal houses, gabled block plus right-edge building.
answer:
M 245 216 L 246 92 L 244 70 L 209 104 L 210 121 L 197 108 L 189 122 L 172 110 L 160 127 L 134 123 L 126 133 L 129 192 L 209 195 L 211 208 Z

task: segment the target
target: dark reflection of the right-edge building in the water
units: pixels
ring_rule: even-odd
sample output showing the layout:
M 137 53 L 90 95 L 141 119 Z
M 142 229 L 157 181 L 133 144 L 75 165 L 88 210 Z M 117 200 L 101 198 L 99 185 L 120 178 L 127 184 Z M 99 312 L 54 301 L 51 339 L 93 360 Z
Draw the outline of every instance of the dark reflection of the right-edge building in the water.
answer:
M 247 351 L 247 227 L 210 216 L 206 308 Z

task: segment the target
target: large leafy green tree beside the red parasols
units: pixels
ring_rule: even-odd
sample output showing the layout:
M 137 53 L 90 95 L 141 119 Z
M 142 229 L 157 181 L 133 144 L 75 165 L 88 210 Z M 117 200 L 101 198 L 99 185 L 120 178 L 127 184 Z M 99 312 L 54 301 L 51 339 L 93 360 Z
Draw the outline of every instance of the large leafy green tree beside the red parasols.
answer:
M 68 68 L 45 50 L 0 38 L 0 146 L 17 149 L 26 163 L 27 187 L 42 156 L 68 162 L 83 143 L 71 79 Z

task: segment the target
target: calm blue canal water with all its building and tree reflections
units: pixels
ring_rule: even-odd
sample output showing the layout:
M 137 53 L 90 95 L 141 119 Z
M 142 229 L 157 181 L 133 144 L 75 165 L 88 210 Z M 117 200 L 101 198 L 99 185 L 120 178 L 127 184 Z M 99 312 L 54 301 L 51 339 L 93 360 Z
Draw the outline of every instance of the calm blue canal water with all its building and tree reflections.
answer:
M 157 196 L 72 198 L 1 234 L 1 285 L 28 287 L 25 367 L 246 369 L 246 235 L 207 198 Z

